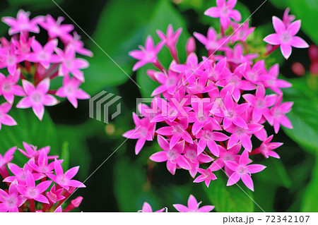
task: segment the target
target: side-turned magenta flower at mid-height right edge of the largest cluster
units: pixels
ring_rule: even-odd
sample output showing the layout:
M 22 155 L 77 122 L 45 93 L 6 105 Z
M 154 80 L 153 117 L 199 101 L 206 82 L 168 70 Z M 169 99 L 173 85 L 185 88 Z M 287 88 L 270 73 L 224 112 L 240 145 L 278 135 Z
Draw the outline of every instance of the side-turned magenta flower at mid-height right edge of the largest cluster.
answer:
M 293 106 L 293 102 L 283 102 L 281 103 L 283 96 L 280 95 L 277 99 L 276 104 L 271 108 L 271 114 L 273 116 L 273 127 L 275 133 L 278 133 L 281 125 L 286 128 L 293 129 L 293 125 L 290 123 L 290 120 L 285 114 L 287 114 L 291 107 Z

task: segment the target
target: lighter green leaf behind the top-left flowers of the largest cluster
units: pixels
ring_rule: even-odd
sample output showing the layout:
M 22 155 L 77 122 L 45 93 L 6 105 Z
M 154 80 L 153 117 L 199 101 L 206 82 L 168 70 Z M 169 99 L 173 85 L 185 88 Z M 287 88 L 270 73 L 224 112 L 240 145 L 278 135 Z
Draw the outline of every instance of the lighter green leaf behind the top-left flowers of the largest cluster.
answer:
M 187 39 L 189 38 L 189 32 L 187 32 L 186 25 L 182 16 L 173 8 L 170 1 L 161 0 L 158 2 L 158 5 L 155 7 L 155 11 L 153 13 L 153 17 L 148 23 L 148 26 L 145 30 L 143 39 L 146 40 L 148 35 L 151 35 L 154 39 L 155 44 L 160 42 L 158 35 L 156 34 L 156 30 L 162 30 L 165 32 L 167 30 L 168 25 L 172 25 L 174 30 L 178 28 L 182 28 L 182 34 L 179 37 L 179 42 L 177 44 L 179 60 L 181 62 L 187 59 L 187 54 L 185 51 L 185 46 L 187 44 Z M 144 42 L 143 42 L 144 43 Z M 166 68 L 170 65 L 172 61 L 172 56 L 166 47 L 160 51 L 158 55 L 158 59 L 163 66 Z M 141 95 L 143 97 L 151 97 L 151 93 L 158 87 L 158 83 L 151 80 L 148 77 L 146 71 L 149 68 L 154 68 L 152 65 L 144 66 L 143 68 L 137 71 L 137 83 L 141 86 Z

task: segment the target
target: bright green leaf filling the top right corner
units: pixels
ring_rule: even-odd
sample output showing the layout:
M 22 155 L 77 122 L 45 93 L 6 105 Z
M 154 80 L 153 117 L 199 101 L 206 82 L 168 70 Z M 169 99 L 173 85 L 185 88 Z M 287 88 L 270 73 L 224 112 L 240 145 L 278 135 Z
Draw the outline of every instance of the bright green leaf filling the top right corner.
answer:
M 295 14 L 297 19 L 302 20 L 302 30 L 317 44 L 318 43 L 318 1 L 316 0 L 271 0 L 279 8 L 289 7 L 291 13 Z

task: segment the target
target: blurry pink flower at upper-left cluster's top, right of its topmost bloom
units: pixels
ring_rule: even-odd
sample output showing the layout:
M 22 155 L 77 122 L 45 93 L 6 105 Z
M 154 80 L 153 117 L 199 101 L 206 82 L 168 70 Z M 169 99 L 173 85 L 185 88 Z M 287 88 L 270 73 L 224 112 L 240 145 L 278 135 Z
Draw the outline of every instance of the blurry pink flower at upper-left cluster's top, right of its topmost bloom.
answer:
M 42 28 L 47 30 L 47 33 L 51 39 L 60 37 L 64 41 L 69 41 L 72 38 L 69 32 L 74 29 L 74 26 L 71 24 L 61 25 L 63 20 L 63 17 L 59 17 L 57 20 L 54 20 L 51 15 L 47 15 L 45 20 L 40 22 L 40 25 Z

